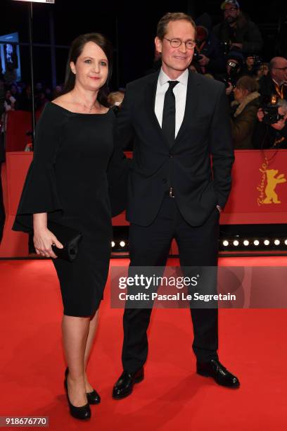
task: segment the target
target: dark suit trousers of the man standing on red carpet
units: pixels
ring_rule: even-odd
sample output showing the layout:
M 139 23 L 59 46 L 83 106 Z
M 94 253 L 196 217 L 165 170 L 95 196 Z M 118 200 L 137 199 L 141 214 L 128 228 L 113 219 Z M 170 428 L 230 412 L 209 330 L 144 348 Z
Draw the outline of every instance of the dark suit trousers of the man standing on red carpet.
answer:
M 196 210 L 195 210 L 196 211 Z M 179 248 L 181 267 L 217 266 L 219 211 L 215 207 L 201 226 L 186 223 L 177 208 L 176 198 L 165 196 L 160 211 L 148 226 L 129 227 L 130 267 L 165 266 L 172 239 Z M 148 356 L 147 330 L 152 308 L 125 308 L 122 365 L 134 373 Z M 193 351 L 200 362 L 217 358 L 217 308 L 191 308 Z

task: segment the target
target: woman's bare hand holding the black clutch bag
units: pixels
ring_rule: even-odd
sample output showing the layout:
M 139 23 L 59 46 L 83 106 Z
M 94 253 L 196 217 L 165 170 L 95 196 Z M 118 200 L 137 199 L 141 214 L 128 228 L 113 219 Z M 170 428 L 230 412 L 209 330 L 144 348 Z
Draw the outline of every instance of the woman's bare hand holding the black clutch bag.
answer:
M 47 213 L 33 214 L 33 228 L 34 228 L 34 247 L 36 253 L 40 256 L 57 258 L 52 250 L 52 245 L 56 245 L 58 249 L 63 249 L 63 244 L 53 235 L 47 228 Z

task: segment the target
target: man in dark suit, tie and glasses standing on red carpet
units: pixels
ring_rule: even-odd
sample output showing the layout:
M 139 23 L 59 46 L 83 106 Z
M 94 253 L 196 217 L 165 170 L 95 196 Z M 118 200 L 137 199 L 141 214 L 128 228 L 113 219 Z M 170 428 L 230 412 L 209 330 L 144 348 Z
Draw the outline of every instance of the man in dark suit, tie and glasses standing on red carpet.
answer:
M 195 24 L 184 13 L 158 23 L 155 49 L 162 68 L 127 85 L 118 139 L 134 139 L 127 220 L 130 268 L 165 266 L 172 239 L 182 267 L 217 266 L 219 212 L 231 189 L 234 153 L 225 87 L 191 73 Z M 212 158 L 212 168 L 210 158 Z M 122 364 L 113 397 L 144 378 L 151 308 L 125 308 Z M 191 310 L 197 372 L 238 387 L 219 363 L 217 309 Z

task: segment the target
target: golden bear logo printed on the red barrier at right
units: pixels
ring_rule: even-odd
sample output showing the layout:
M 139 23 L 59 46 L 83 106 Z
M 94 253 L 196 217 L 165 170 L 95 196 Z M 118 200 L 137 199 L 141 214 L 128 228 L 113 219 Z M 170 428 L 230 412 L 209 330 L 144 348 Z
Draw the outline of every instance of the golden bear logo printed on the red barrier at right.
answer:
M 262 180 L 257 190 L 260 192 L 260 197 L 257 198 L 257 204 L 281 204 L 278 199 L 278 194 L 275 192 L 277 184 L 286 182 L 285 174 L 278 174 L 278 169 L 267 169 L 268 163 L 262 164 Z

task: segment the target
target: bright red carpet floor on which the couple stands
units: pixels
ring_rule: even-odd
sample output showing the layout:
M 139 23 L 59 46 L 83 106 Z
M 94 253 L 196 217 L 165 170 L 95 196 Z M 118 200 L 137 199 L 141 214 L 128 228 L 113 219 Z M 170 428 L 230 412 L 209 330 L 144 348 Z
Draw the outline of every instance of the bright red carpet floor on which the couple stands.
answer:
M 286 266 L 287 258 L 224 258 L 221 264 Z M 219 310 L 219 357 L 240 378 L 236 390 L 196 375 L 188 310 L 154 310 L 146 378 L 132 396 L 115 401 L 122 310 L 110 309 L 107 285 L 89 363 L 102 402 L 82 423 L 70 417 L 63 391 L 62 306 L 52 263 L 0 261 L 0 289 L 0 416 L 49 416 L 49 430 L 287 429 L 286 310 Z

